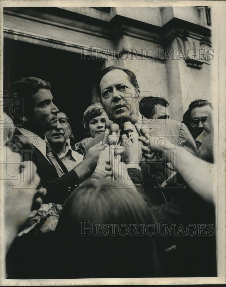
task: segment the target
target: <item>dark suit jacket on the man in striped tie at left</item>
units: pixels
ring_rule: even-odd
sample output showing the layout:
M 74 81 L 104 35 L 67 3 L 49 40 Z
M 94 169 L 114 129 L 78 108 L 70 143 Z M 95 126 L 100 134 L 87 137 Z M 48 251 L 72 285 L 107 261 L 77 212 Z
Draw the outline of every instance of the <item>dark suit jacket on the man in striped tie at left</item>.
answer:
M 14 131 L 12 142 L 20 144 L 22 160 L 31 160 L 36 165 L 37 173 L 41 179 L 40 185 L 47 189 L 47 195 L 43 197 L 43 203 L 54 202 L 62 204 L 71 193 L 71 190 L 73 190 L 73 187 L 80 183 L 76 172 L 74 170 L 68 172 L 57 154 L 51 149 L 53 156 L 65 173 L 59 177 L 55 167 L 36 148 L 36 142 L 33 141 L 34 144 L 30 144 L 28 138 L 17 129 Z

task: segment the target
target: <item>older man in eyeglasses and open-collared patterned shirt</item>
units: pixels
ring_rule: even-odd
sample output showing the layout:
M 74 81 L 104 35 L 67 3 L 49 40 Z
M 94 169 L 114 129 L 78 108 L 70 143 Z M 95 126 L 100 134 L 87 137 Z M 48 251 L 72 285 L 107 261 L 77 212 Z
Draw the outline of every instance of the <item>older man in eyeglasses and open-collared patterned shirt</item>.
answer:
M 83 161 L 82 152 L 79 153 L 71 148 L 70 133 L 71 127 L 69 119 L 65 113 L 59 112 L 57 114 L 57 127 L 51 131 L 47 131 L 45 134 L 50 146 L 54 149 L 68 171 Z

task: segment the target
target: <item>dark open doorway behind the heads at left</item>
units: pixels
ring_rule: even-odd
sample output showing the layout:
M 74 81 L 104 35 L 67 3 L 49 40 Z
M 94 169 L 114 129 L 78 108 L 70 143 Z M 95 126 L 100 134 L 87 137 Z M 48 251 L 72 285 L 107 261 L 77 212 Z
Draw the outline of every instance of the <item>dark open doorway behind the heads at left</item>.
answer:
M 92 103 L 96 75 L 103 61 L 80 61 L 81 55 L 4 38 L 4 90 L 20 77 L 38 77 L 51 84 L 60 111 L 71 121 L 76 141 L 86 134 L 82 117 Z

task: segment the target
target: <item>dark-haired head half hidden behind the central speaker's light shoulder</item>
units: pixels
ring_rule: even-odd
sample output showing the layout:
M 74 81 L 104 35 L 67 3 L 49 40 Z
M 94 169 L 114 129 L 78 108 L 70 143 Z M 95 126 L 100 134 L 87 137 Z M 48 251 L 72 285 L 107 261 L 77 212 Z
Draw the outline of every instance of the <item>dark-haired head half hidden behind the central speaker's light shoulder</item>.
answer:
M 146 119 L 169 119 L 169 103 L 165 98 L 144 97 L 139 102 L 140 113 Z

